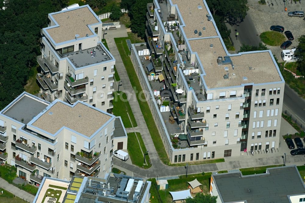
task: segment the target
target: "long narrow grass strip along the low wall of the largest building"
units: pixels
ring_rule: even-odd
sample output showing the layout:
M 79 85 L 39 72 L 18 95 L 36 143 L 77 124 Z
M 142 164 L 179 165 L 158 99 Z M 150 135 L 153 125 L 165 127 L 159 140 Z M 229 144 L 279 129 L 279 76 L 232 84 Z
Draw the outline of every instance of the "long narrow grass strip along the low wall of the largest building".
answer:
M 127 75 L 129 77 L 129 80 L 131 82 L 132 87 L 135 90 L 136 97 L 138 100 L 138 103 L 140 105 L 141 112 L 144 116 L 144 120 L 146 122 L 146 125 L 148 127 L 150 136 L 152 137 L 152 141 L 155 145 L 155 148 L 158 152 L 160 160 L 164 164 L 169 163 L 169 159 L 167 157 L 167 153 L 164 149 L 164 145 L 162 143 L 159 131 L 156 127 L 155 121 L 152 117 L 151 111 L 149 109 L 148 103 L 145 100 L 145 96 L 142 92 L 142 87 L 139 83 L 138 77 L 136 77 L 136 72 L 133 67 L 133 64 L 130 60 L 130 57 L 128 56 L 129 50 L 127 47 L 126 39 L 131 39 L 131 43 L 136 43 L 138 42 L 138 38 L 134 34 L 128 33 L 129 37 L 121 37 L 121 38 L 114 38 L 114 41 L 116 42 L 117 49 L 121 55 L 121 58 L 123 60 L 125 69 L 127 71 Z M 126 52 L 127 50 L 127 52 Z M 140 94 L 141 93 L 141 94 Z M 141 97 L 141 99 L 140 99 Z

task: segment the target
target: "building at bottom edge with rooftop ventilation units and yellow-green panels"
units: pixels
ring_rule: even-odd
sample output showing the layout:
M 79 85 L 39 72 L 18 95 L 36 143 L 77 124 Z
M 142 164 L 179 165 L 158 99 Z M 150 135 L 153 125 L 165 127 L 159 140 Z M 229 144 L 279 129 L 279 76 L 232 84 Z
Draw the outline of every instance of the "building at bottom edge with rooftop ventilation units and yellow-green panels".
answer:
M 33 203 L 149 203 L 150 186 L 150 181 L 116 173 L 105 178 L 73 177 L 70 182 L 44 177 Z

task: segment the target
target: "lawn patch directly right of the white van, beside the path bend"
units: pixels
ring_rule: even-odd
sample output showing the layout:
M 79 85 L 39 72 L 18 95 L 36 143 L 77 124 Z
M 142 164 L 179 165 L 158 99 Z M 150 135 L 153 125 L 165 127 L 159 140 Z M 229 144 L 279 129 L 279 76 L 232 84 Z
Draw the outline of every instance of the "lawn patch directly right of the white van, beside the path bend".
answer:
M 137 134 L 137 135 L 136 135 Z M 142 167 L 144 166 L 144 155 L 142 153 L 146 151 L 145 145 L 143 143 L 142 137 L 140 133 L 127 133 L 128 140 L 127 140 L 127 150 L 129 157 L 131 159 L 132 164 Z M 138 140 L 141 144 L 141 146 L 138 144 Z M 141 151 L 142 148 L 142 151 Z M 145 150 L 145 151 L 144 151 Z M 148 169 L 151 167 L 151 164 L 149 163 L 149 155 L 145 156 L 146 163 L 148 164 L 147 166 L 145 165 L 144 168 Z

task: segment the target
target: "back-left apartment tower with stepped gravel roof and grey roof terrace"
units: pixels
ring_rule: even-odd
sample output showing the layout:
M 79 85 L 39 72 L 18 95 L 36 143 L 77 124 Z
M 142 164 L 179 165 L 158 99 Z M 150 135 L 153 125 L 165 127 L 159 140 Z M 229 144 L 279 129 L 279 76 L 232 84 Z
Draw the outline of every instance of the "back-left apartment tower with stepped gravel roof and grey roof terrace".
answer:
M 48 14 L 41 29 L 41 97 L 86 102 L 112 112 L 115 59 L 102 41 L 102 22 L 88 5 Z

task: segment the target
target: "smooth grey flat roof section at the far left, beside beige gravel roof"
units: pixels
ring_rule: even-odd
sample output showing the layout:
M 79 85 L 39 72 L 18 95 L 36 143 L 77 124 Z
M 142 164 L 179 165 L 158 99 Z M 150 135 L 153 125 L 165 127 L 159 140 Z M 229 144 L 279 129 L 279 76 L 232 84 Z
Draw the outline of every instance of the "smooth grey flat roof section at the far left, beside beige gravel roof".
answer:
M 45 109 L 48 104 L 49 102 L 43 102 L 34 96 L 23 94 L 19 99 L 8 106 L 2 114 L 26 124 Z

